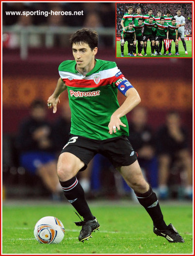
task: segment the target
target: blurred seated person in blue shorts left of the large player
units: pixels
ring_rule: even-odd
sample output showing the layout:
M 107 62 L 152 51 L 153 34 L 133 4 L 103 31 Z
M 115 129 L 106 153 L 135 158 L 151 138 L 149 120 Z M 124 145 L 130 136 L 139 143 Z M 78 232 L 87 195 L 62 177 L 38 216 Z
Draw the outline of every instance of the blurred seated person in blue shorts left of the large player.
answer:
M 30 106 L 30 116 L 19 128 L 16 142 L 20 164 L 32 175 L 37 174 L 56 199 L 61 191 L 57 177 L 57 162 L 52 140 L 52 126 L 46 120 L 45 104 L 35 100 Z

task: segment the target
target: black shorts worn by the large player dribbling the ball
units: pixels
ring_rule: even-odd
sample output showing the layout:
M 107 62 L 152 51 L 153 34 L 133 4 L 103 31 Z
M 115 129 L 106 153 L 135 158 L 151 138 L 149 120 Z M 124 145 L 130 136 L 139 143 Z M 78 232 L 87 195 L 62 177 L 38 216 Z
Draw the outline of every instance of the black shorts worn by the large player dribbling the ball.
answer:
M 82 136 L 70 135 L 68 143 L 61 153 L 69 152 L 84 162 L 85 166 L 96 154 L 106 156 L 114 167 L 128 166 L 137 159 L 137 153 L 133 150 L 128 138 L 121 136 L 107 140 L 93 140 Z

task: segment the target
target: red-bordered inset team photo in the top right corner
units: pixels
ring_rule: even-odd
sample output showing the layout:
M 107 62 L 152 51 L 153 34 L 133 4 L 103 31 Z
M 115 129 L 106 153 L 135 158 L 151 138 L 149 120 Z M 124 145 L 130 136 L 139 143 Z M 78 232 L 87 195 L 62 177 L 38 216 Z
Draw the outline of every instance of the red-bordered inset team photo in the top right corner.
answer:
M 116 58 L 192 57 L 192 3 L 117 3 Z

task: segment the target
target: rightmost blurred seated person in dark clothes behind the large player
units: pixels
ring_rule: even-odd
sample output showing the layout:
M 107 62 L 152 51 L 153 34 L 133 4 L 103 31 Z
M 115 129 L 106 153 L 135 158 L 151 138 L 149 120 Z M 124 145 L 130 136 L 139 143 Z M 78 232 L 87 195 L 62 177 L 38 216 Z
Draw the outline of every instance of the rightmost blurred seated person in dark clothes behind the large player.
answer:
M 168 197 L 168 181 L 173 166 L 185 172 L 185 197 L 192 199 L 192 160 L 187 144 L 187 131 L 181 126 L 179 113 L 170 111 L 157 136 L 159 156 L 159 196 Z

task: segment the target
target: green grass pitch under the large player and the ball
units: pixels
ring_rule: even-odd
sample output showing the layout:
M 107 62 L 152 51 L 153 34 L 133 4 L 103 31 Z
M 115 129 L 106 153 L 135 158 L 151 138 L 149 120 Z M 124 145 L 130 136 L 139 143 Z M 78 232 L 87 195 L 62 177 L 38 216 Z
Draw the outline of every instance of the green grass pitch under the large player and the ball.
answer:
M 161 203 L 164 219 L 172 223 L 185 243 L 169 243 L 153 233 L 153 225 L 144 208 L 132 201 L 89 202 L 97 217 L 100 231 L 92 238 L 78 241 L 80 227 L 74 208 L 67 203 L 4 203 L 3 253 L 24 254 L 140 254 L 140 253 L 192 253 L 192 205 L 190 203 Z M 33 235 L 35 223 L 44 216 L 59 218 L 65 227 L 60 244 L 39 244 Z

